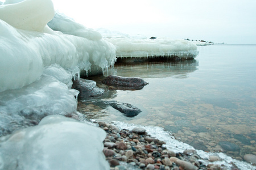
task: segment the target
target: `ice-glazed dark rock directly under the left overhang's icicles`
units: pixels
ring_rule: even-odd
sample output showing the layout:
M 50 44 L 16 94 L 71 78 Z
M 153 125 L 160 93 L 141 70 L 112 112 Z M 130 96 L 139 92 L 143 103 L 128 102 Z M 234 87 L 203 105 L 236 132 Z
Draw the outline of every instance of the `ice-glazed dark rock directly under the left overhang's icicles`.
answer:
M 88 99 L 89 97 L 98 97 L 104 94 L 104 90 L 96 86 L 93 80 L 78 79 L 73 80 L 73 89 L 79 91 L 78 97 L 80 99 Z

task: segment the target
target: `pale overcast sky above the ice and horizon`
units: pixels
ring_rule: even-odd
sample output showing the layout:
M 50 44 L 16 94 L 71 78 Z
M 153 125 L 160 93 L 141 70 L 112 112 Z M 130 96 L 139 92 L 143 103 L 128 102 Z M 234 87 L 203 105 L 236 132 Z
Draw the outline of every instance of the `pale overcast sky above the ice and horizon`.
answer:
M 148 37 L 256 44 L 255 0 L 52 1 L 56 10 L 88 28 Z

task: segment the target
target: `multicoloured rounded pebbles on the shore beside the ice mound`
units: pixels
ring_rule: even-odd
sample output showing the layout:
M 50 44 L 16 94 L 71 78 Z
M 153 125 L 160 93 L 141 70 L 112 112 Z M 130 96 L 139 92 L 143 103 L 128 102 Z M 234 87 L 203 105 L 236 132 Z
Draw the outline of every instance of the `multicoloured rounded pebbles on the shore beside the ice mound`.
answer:
M 164 141 L 151 137 L 143 128 L 119 129 L 105 122 L 94 122 L 107 133 L 104 140 L 104 154 L 111 169 L 230 169 L 214 164 L 221 160 L 209 156 L 210 164 L 202 162 L 196 150 L 174 152 L 168 150 Z M 232 170 L 238 169 L 232 165 Z

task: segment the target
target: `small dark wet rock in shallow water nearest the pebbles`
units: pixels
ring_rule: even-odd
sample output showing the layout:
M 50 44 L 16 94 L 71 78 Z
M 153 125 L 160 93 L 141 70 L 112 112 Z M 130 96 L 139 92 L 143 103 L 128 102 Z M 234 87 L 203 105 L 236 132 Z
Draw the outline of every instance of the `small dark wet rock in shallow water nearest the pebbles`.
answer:
M 119 103 L 117 101 L 108 102 L 114 109 L 117 109 L 119 112 L 124 113 L 127 117 L 134 117 L 141 113 L 141 109 L 128 104 L 128 103 Z

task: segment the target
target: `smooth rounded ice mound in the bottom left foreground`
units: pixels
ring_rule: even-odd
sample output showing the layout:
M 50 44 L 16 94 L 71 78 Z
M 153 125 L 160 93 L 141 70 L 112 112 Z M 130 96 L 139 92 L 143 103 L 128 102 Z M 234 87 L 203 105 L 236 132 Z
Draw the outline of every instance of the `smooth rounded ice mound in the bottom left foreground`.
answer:
M 105 137 L 95 126 L 48 116 L 1 138 L 0 169 L 110 169 L 102 152 Z

